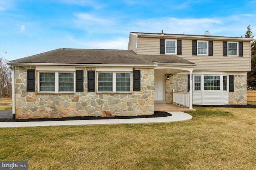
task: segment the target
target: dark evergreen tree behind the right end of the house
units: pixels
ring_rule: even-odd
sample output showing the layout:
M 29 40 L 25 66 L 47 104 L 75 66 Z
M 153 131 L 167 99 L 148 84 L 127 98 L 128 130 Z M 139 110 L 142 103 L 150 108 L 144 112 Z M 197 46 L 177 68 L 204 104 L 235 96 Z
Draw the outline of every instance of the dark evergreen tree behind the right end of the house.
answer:
M 244 34 L 246 38 L 253 38 L 250 25 L 247 27 L 247 31 Z M 251 71 L 247 72 L 247 90 L 256 90 L 256 41 L 251 43 Z

